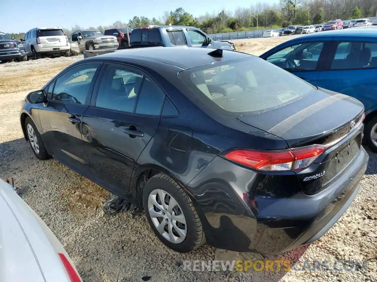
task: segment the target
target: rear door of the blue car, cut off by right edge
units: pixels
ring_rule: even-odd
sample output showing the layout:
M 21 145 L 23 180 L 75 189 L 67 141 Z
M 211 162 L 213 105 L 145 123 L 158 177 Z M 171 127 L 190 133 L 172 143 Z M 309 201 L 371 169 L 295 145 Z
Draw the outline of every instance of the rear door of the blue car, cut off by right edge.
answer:
M 366 114 L 376 109 L 377 38 L 337 37 L 331 50 L 317 86 L 360 100 Z

